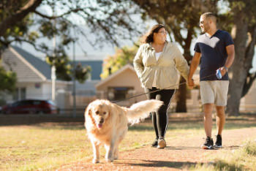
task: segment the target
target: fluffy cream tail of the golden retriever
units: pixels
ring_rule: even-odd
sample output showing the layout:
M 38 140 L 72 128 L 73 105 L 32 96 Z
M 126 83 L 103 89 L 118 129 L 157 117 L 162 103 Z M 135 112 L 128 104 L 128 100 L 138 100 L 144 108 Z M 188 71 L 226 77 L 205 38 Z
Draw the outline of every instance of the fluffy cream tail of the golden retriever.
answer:
M 162 106 L 162 104 L 162 101 L 156 99 L 145 100 L 132 104 L 132 106 L 128 108 L 127 112 L 127 118 L 129 123 L 138 123 L 141 120 L 147 118 L 149 113 L 158 110 L 159 107 Z

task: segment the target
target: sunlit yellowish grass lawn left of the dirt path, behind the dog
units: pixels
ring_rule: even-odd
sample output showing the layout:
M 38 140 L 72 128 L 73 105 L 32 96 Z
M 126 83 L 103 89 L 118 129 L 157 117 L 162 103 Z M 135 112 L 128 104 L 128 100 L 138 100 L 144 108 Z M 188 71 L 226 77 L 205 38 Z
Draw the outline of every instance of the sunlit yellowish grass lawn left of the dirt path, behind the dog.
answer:
M 81 125 L 39 124 L 0 126 L 0 170 L 53 170 L 61 164 L 91 159 L 91 142 Z M 153 131 L 133 130 L 123 140 L 120 151 L 140 148 Z M 101 156 L 105 150 L 101 148 Z

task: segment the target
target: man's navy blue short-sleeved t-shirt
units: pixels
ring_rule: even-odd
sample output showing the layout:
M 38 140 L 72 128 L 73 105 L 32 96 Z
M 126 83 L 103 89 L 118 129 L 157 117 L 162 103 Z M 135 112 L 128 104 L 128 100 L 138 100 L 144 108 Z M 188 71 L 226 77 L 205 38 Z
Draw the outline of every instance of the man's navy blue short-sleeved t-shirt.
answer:
M 218 80 L 216 70 L 225 65 L 226 47 L 233 44 L 233 39 L 227 31 L 217 30 L 211 37 L 206 34 L 198 37 L 194 50 L 201 53 L 200 81 Z M 227 73 L 221 80 L 228 80 Z

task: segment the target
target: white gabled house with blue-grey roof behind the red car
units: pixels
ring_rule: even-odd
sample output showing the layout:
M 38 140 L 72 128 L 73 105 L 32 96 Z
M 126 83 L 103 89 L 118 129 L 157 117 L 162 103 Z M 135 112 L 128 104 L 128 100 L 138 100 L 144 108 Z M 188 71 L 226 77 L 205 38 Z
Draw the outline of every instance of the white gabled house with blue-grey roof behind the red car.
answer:
M 8 47 L 2 54 L 2 65 L 16 73 L 18 82 L 14 94 L 4 96 L 6 102 L 20 99 L 52 99 L 51 67 L 17 46 Z M 72 83 L 56 80 L 56 93 L 68 91 Z

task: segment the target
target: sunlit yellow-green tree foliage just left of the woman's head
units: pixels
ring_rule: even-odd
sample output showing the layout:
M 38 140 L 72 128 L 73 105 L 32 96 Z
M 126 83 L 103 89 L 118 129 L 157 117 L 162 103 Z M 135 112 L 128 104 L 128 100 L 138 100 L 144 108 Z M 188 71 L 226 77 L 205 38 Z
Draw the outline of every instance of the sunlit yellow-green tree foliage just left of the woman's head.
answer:
M 103 72 L 100 77 L 106 78 L 110 74 L 121 69 L 122 66 L 126 64 L 132 64 L 133 58 L 138 51 L 139 45 L 136 43 L 132 47 L 124 46 L 121 48 L 116 47 L 116 53 L 113 56 L 108 56 L 104 59 Z

